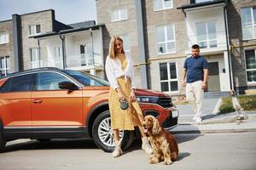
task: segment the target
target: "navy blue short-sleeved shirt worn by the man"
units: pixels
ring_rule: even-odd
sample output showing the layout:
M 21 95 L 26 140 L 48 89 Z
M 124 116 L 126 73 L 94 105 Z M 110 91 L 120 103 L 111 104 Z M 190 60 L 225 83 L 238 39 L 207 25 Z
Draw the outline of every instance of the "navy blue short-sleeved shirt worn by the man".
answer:
M 190 56 L 185 60 L 183 68 L 187 70 L 187 82 L 204 80 L 204 69 L 208 68 L 207 59 L 201 55 L 196 58 Z

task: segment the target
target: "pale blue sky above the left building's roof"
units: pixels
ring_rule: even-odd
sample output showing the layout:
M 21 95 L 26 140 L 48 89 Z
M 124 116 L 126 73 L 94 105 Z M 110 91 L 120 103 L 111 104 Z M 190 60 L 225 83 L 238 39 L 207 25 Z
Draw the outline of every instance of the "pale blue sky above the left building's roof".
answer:
M 0 0 L 0 21 L 45 9 L 54 9 L 55 20 L 64 24 L 96 20 L 96 0 Z

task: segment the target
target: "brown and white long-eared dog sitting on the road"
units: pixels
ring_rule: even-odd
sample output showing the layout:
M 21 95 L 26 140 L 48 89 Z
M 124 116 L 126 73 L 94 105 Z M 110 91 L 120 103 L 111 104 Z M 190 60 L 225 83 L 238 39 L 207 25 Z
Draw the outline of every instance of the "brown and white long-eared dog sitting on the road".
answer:
M 172 161 L 177 160 L 178 148 L 176 139 L 164 127 L 160 127 L 160 123 L 154 116 L 148 115 L 144 117 L 143 128 L 144 133 L 150 137 L 150 143 L 154 151 L 149 163 L 164 161 L 164 164 L 170 165 Z

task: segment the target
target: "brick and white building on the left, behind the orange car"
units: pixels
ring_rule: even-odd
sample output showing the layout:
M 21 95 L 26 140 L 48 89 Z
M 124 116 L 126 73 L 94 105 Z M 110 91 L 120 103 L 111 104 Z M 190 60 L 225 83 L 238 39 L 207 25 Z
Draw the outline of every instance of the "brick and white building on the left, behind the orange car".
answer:
M 0 21 L 0 77 L 38 67 L 58 67 L 104 77 L 102 27 L 95 21 L 65 25 L 52 9 L 13 14 Z

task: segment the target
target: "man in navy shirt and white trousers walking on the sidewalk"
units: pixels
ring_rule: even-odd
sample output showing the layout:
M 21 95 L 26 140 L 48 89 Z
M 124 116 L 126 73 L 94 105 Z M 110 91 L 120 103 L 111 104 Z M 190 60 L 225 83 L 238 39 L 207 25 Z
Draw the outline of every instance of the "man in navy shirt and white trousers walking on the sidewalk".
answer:
M 208 63 L 200 54 L 197 44 L 191 47 L 192 56 L 185 60 L 183 66 L 183 87 L 186 87 L 186 98 L 195 111 L 193 120 L 201 122 L 201 107 L 204 99 L 204 90 L 207 88 Z M 185 77 L 186 81 L 185 81 Z

